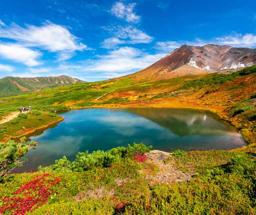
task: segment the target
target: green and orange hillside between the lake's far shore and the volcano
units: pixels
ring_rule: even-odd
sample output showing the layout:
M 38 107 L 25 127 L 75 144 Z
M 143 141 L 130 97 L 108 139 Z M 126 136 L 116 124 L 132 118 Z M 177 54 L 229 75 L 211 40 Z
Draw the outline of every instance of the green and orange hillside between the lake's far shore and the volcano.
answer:
M 247 133 L 246 129 L 255 126 L 255 83 L 256 66 L 228 75 L 212 73 L 141 83 L 132 78 L 110 79 L 3 98 L 0 117 L 29 105 L 49 112 L 89 107 L 197 108 L 212 110 Z M 251 132 L 248 135 L 255 141 Z

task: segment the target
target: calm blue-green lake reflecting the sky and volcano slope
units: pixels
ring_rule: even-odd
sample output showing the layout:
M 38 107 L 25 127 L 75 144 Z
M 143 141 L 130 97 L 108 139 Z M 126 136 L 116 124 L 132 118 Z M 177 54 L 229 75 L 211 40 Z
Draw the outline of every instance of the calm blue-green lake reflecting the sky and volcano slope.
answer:
M 15 172 L 34 171 L 78 151 L 108 150 L 128 143 L 172 151 L 234 149 L 246 145 L 241 134 L 207 111 L 170 108 L 81 109 L 60 114 L 65 120 L 30 137 L 39 143 Z

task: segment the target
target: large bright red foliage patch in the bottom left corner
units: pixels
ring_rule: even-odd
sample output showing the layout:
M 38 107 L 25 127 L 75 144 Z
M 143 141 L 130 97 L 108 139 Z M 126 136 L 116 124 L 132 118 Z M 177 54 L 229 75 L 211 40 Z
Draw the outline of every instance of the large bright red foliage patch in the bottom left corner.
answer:
M 34 180 L 22 184 L 19 189 L 12 193 L 12 197 L 4 197 L 0 214 L 10 211 L 8 214 L 24 215 L 45 204 L 52 194 L 52 186 L 60 183 L 60 177 L 51 178 L 49 173 L 41 176 L 36 175 Z

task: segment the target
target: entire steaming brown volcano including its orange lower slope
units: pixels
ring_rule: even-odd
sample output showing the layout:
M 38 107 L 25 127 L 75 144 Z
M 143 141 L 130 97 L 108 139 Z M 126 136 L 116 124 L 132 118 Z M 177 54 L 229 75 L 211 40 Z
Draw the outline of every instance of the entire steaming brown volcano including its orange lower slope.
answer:
M 256 49 L 234 48 L 228 45 L 182 45 L 153 65 L 133 73 L 141 79 L 169 79 L 222 70 L 236 70 L 256 64 Z

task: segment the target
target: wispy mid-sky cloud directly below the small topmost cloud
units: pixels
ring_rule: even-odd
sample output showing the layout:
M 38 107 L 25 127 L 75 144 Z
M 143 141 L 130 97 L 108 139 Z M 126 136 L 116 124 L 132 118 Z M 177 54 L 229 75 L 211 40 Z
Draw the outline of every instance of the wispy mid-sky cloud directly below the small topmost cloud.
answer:
M 103 48 L 111 49 L 119 44 L 150 43 L 153 40 L 153 37 L 131 25 L 105 27 L 104 29 L 110 32 L 113 37 L 105 39 L 101 43 Z

